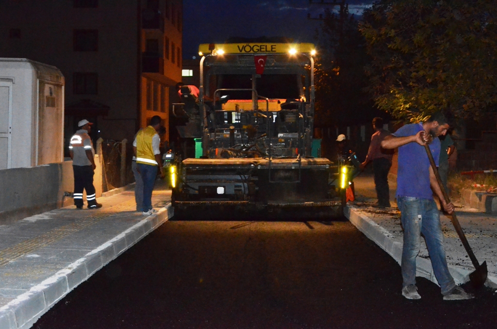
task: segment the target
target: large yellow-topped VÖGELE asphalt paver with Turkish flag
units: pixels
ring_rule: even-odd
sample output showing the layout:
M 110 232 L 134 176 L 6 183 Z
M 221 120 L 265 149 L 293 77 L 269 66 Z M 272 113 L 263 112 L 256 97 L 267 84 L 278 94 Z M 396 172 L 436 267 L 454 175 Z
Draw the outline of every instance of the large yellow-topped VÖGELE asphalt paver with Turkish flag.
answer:
M 346 167 L 313 139 L 313 44 L 202 44 L 198 98 L 183 86 L 196 157 L 169 167 L 175 215 L 191 219 L 343 216 Z M 261 217 L 262 216 L 262 217 Z

